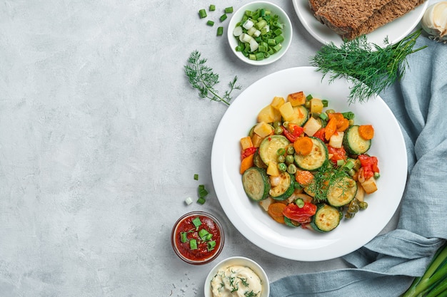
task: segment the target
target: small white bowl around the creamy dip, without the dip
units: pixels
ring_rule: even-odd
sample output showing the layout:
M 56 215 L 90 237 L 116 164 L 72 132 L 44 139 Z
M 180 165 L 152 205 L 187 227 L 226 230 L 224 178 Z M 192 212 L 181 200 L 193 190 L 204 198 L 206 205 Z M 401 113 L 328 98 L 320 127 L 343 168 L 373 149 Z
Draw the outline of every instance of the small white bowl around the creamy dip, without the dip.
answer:
M 259 278 L 261 279 L 261 286 L 262 286 L 261 296 L 259 297 L 268 297 L 270 295 L 270 283 L 268 283 L 268 277 L 266 271 L 264 271 L 262 267 L 259 266 L 259 264 L 257 264 L 255 261 L 251 259 L 242 256 L 233 256 L 222 260 L 221 262 L 219 262 L 219 264 L 214 266 L 214 268 L 211 269 L 211 271 L 209 271 L 208 276 L 206 276 L 205 280 L 205 297 L 213 297 L 213 292 L 211 291 L 211 280 L 214 278 L 217 271 L 219 271 L 219 269 L 225 269 L 228 266 L 234 266 L 234 265 L 248 267 L 259 276 Z

